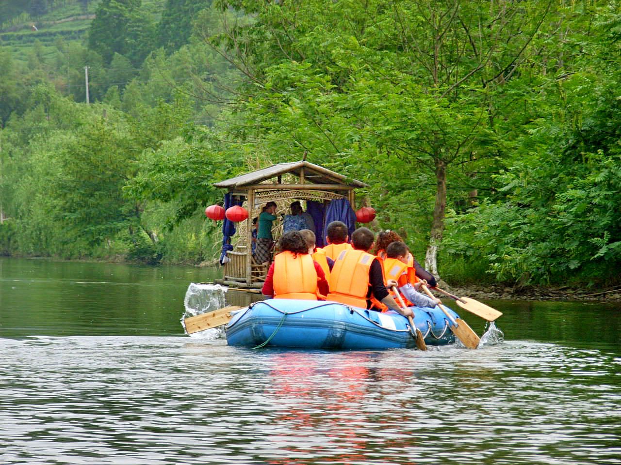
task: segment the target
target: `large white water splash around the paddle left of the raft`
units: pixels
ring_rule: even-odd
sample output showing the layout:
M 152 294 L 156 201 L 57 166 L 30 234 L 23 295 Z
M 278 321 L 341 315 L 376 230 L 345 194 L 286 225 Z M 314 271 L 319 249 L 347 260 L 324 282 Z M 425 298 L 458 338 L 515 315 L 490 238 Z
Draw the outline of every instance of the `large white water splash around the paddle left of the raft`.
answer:
M 186 296 L 183 299 L 185 311 L 181 317 L 181 322 L 191 316 L 201 315 L 212 312 L 226 306 L 224 293 L 227 288 L 219 284 L 190 283 Z M 218 339 L 224 335 L 221 328 L 206 329 L 204 331 L 190 334 L 190 337 L 199 339 Z

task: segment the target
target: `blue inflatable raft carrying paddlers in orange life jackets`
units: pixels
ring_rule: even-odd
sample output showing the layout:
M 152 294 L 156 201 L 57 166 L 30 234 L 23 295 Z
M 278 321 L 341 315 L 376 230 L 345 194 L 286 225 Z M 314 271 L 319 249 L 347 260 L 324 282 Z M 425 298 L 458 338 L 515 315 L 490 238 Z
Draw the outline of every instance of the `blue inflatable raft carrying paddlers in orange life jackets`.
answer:
M 450 314 L 458 314 L 447 308 Z M 414 308 L 414 324 L 427 345 L 454 342 L 439 308 Z M 242 347 L 387 349 L 416 347 L 409 322 L 396 312 L 379 313 L 330 301 L 270 299 L 233 315 L 227 343 Z

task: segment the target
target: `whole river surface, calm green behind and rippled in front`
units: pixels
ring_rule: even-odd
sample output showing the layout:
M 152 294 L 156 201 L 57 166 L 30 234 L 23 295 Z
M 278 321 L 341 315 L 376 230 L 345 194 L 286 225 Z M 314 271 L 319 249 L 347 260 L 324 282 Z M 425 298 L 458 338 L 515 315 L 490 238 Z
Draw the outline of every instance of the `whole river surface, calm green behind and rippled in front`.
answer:
M 619 306 L 486 302 L 479 350 L 249 350 L 183 334 L 216 276 L 0 257 L 0 464 L 621 463 Z

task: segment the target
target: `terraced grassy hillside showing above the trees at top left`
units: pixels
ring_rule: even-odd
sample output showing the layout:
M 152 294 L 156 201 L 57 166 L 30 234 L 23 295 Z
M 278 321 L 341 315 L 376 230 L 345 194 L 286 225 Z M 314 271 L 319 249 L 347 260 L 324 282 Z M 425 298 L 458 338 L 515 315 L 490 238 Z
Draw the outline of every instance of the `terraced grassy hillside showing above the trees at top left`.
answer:
M 99 0 L 89 2 L 84 11 L 78 0 L 55 2 L 47 14 L 37 18 L 30 17 L 27 12 L 12 19 L 0 18 L 0 47 L 11 50 L 16 61 L 27 61 L 27 57 L 38 41 L 40 56 L 44 58 L 55 51 L 54 43 L 62 38 L 65 42 L 83 41 L 95 17 Z M 165 0 L 142 0 L 142 7 L 157 17 L 163 9 Z M 37 30 L 34 30 L 35 25 Z

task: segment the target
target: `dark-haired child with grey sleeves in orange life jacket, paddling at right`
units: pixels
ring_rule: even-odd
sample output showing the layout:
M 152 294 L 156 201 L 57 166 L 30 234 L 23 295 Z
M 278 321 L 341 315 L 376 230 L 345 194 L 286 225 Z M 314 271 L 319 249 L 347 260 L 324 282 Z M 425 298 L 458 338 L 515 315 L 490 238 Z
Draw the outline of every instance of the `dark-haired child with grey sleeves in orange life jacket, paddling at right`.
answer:
M 391 275 L 398 274 L 397 288 L 403 296 L 408 299 L 416 307 L 433 308 L 437 304 L 442 303 L 440 299 L 430 299 L 424 294 L 418 292 L 420 286 L 425 281 L 420 281 L 415 273 L 414 268 L 408 266 L 409 249 L 403 242 L 391 242 L 386 247 L 386 260 L 384 261 L 384 272 Z M 402 263 L 399 266 L 399 263 Z M 413 282 L 412 282 L 413 281 Z

